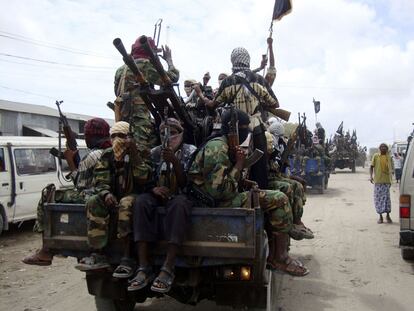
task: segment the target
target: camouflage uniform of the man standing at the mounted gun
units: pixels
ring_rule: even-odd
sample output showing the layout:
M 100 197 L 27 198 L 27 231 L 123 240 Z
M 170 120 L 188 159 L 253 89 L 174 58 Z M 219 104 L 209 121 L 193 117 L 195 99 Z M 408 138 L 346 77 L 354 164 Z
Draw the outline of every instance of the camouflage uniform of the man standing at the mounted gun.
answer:
M 135 64 L 150 84 L 162 84 L 160 75 L 149 60 L 143 58 L 135 59 Z M 167 71 L 167 75 L 171 81 L 177 82 L 179 71 L 172 66 Z M 150 172 L 151 163 L 149 154 L 150 150 L 157 145 L 157 135 L 155 135 L 154 123 L 150 112 L 143 99 L 139 96 L 135 75 L 127 65 L 121 66 L 115 73 L 115 95 L 117 96 L 115 104 L 127 106 L 128 101 L 130 103 L 131 111 L 127 111 L 122 115 L 122 121 L 131 124 L 133 137 L 136 142 L 139 142 L 137 144 L 138 151 L 141 155 L 144 155 L 145 160 L 137 169 L 141 172 Z

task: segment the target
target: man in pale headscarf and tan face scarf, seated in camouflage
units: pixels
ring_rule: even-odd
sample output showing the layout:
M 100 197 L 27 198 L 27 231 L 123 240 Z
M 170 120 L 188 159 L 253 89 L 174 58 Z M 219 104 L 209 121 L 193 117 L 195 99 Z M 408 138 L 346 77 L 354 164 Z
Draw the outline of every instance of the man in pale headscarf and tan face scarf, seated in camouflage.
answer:
M 130 257 L 130 233 L 132 232 L 132 205 L 135 193 L 142 192 L 148 182 L 139 169 L 142 158 L 133 139 L 128 137 L 130 125 L 116 122 L 110 130 L 112 148 L 106 149 L 94 169 L 96 194 L 86 201 L 88 244 L 93 250 L 75 267 L 81 271 L 109 267 L 103 248 L 108 244 L 111 210 L 118 214 L 117 237 L 124 245 L 121 264 L 113 276 L 128 278 L 134 271 Z

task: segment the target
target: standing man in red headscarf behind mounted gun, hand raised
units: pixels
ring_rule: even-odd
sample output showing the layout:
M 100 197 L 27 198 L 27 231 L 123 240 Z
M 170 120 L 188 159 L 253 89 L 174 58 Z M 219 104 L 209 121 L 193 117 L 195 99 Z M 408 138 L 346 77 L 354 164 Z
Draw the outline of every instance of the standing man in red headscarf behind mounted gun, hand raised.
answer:
M 138 37 L 131 48 L 131 55 L 145 79 L 151 85 L 162 85 L 161 77 L 149 61 L 149 55 L 140 42 L 142 36 Z M 148 44 L 156 50 L 157 47 L 152 38 L 148 37 Z M 168 64 L 167 76 L 172 82 L 177 82 L 179 71 L 174 67 L 171 50 L 168 46 L 162 47 L 163 57 Z M 141 175 L 151 171 L 151 163 L 146 155 L 151 148 L 157 144 L 154 122 L 145 102 L 139 95 L 136 87 L 134 73 L 127 65 L 122 65 L 115 73 L 115 121 L 126 121 L 131 125 L 133 138 L 137 143 L 143 161 L 138 169 Z

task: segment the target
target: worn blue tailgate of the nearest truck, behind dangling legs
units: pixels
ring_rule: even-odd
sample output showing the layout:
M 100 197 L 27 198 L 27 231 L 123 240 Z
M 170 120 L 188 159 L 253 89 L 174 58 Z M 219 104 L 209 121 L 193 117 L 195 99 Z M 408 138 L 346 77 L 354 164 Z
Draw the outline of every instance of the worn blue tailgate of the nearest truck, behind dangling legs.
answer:
M 158 208 L 161 219 L 165 214 Z M 255 258 L 256 225 L 263 230 L 259 209 L 193 208 L 188 240 L 181 247 L 183 256 L 214 258 Z M 256 223 L 256 219 L 259 223 Z M 43 244 L 55 253 L 84 254 L 89 252 L 85 206 L 79 204 L 45 205 Z M 120 245 L 110 247 L 120 251 Z M 161 241 L 155 253 L 164 253 Z M 81 256 L 81 255 L 80 255 Z

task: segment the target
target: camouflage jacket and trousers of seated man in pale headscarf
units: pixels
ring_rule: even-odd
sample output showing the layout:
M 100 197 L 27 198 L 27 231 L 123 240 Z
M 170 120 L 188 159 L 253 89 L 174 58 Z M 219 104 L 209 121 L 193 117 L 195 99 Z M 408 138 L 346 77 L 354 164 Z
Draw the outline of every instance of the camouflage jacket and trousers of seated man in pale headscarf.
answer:
M 132 231 L 131 215 L 138 187 L 144 186 L 148 177 L 136 175 L 142 172 L 139 165 L 115 162 L 112 148 L 106 149 L 95 167 L 96 195 L 86 202 L 88 218 L 88 244 L 94 249 L 101 249 L 108 243 L 109 220 L 111 211 L 105 205 L 105 196 L 112 193 L 118 200 L 117 232 L 118 238 L 126 237 Z M 145 172 L 146 174 L 146 172 Z

